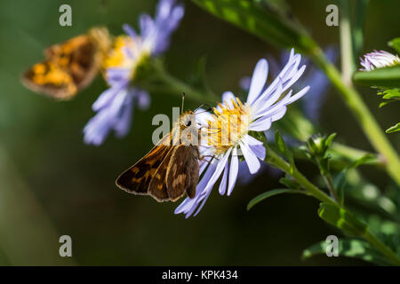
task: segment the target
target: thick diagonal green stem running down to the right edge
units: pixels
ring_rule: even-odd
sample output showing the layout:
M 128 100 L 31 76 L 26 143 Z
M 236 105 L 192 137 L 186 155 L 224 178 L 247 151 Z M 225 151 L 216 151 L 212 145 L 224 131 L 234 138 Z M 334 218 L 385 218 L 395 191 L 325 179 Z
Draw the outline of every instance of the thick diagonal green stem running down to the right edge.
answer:
M 388 142 L 388 138 L 380 129 L 378 122 L 372 116 L 364 100 L 351 84 L 347 85 L 343 82 L 339 71 L 326 59 L 324 52 L 320 48 L 316 48 L 311 57 L 338 89 L 342 99 L 345 100 L 350 110 L 355 114 L 356 120 L 360 123 L 372 146 L 384 157 L 388 174 L 400 185 L 400 159 L 398 154 Z

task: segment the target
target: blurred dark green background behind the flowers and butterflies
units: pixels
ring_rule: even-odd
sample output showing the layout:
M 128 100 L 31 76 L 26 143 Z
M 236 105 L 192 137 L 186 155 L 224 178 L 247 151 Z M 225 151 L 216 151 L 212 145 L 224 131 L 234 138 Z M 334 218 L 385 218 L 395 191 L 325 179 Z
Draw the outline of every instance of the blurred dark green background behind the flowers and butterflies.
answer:
M 60 4 L 71 4 L 72 27 L 60 27 Z M 295 15 L 322 46 L 338 44 L 337 27 L 324 23 L 329 1 L 288 1 Z M 239 91 L 238 81 L 267 54 L 280 51 L 185 1 L 186 14 L 172 37 L 165 62 L 183 80 L 207 56 L 207 76 L 217 93 Z M 101 78 L 69 102 L 55 102 L 25 89 L 22 72 L 43 59 L 43 50 L 106 25 L 112 34 L 122 24 L 137 27 L 140 12 L 154 14 L 156 1 L 2 1 L 0 3 L 0 264 L 111 265 L 280 265 L 366 264 L 344 257 L 317 256 L 301 261 L 304 248 L 337 233 L 316 216 L 318 202 L 300 195 L 276 196 L 247 212 L 255 195 L 279 186 L 275 177 L 257 177 L 236 186 L 231 197 L 214 190 L 197 217 L 176 216 L 178 203 L 157 203 L 116 188 L 119 173 L 151 147 L 154 114 L 171 115 L 179 96 L 152 94 L 148 112 L 134 114 L 124 139 L 85 146 L 84 124 L 92 102 L 106 87 Z M 388 50 L 399 36 L 399 1 L 372 0 L 364 51 Z M 340 61 L 340 60 L 338 60 Z M 396 104 L 378 108 L 376 91 L 362 88 L 382 128 L 398 118 Z M 188 98 L 190 98 L 188 94 Z M 187 107 L 198 106 L 188 99 Z M 396 108 L 397 107 L 397 108 Z M 397 117 L 396 117 L 397 116 Z M 324 129 L 350 146 L 372 150 L 353 116 L 334 90 L 324 106 Z M 398 148 L 400 136 L 389 136 Z M 312 177 L 308 163 L 300 169 Z M 364 170 L 377 185 L 388 178 Z M 73 241 L 73 257 L 59 256 L 60 235 Z

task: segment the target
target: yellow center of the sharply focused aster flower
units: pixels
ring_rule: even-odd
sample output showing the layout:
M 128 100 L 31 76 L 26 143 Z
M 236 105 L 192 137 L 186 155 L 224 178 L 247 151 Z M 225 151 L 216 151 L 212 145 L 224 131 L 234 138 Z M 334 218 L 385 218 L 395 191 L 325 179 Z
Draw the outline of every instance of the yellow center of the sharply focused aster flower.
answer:
M 231 99 L 232 106 L 225 102 L 219 104 L 220 110 L 214 107 L 213 119 L 208 121 L 208 128 L 202 128 L 201 138 L 206 145 L 212 146 L 215 155 L 227 152 L 228 148 L 237 146 L 249 131 L 252 122 L 250 106 L 242 104 L 240 99 Z

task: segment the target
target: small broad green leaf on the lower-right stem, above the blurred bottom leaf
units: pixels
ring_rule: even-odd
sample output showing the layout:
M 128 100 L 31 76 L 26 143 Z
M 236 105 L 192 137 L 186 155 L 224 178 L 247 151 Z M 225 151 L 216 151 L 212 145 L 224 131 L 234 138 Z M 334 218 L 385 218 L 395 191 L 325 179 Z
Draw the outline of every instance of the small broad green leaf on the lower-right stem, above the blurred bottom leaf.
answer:
M 321 203 L 318 209 L 318 216 L 327 223 L 352 235 L 362 236 L 367 230 L 367 226 L 346 209 L 331 204 Z

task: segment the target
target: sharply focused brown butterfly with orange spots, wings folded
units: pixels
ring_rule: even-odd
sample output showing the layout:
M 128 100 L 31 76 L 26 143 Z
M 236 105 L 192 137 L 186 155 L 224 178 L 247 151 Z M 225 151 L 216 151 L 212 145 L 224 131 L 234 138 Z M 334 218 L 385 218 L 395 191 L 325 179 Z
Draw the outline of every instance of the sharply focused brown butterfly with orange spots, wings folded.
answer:
M 198 134 L 195 114 L 180 114 L 172 131 L 125 170 L 116 185 L 128 193 L 150 195 L 159 202 L 177 201 L 185 193 L 194 198 L 199 175 Z

